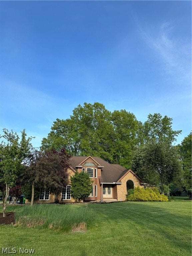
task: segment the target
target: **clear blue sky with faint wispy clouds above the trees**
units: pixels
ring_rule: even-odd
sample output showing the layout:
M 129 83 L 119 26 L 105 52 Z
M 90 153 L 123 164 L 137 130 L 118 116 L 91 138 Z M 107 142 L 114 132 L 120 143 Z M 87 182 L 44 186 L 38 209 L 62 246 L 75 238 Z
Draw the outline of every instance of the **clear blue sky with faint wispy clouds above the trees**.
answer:
M 100 102 L 191 131 L 191 1 L 1 1 L 0 133 L 41 145 L 56 118 Z

